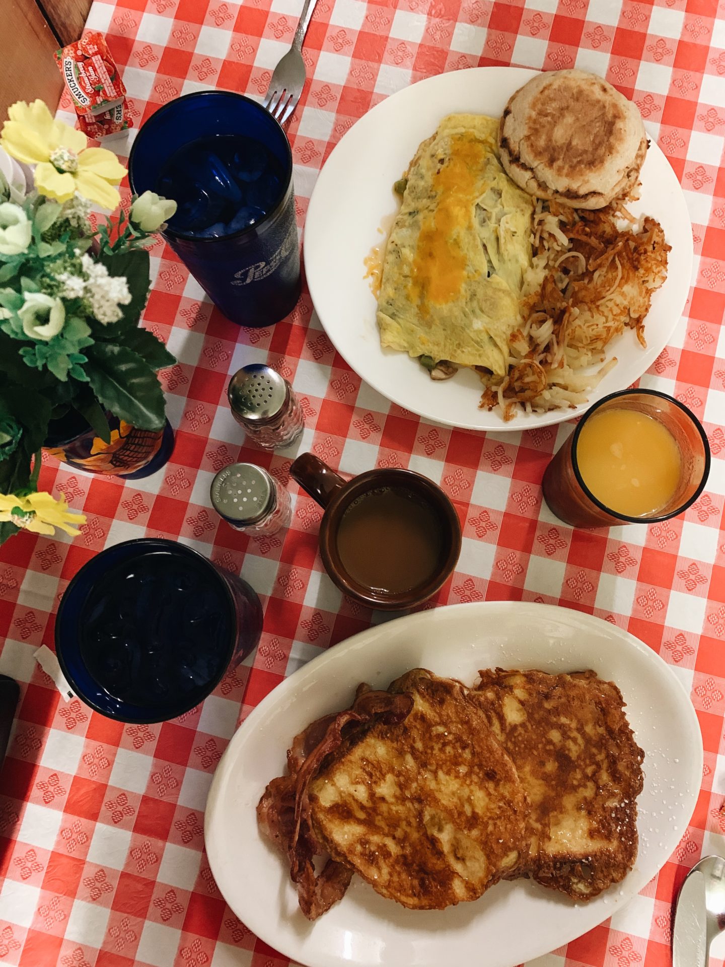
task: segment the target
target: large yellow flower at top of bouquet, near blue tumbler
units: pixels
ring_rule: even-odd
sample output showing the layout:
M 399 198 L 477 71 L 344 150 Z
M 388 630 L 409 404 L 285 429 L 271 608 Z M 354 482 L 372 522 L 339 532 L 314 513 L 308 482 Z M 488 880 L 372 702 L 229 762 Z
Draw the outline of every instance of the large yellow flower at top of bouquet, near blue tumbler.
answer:
M 35 164 L 35 187 L 56 201 L 68 201 L 75 191 L 103 208 L 121 201 L 118 185 L 126 168 L 112 151 L 89 148 L 83 132 L 56 121 L 45 104 L 15 102 L 0 135 L 0 147 L 17 161 Z

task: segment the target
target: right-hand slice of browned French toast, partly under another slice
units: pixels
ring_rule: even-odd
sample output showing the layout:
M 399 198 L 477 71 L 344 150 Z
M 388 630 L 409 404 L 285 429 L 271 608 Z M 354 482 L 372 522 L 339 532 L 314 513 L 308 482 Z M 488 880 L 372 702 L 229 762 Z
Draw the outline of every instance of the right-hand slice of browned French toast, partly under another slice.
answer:
M 592 671 L 479 674 L 483 707 L 531 807 L 517 874 L 592 899 L 623 880 L 637 856 L 644 752 L 620 689 Z

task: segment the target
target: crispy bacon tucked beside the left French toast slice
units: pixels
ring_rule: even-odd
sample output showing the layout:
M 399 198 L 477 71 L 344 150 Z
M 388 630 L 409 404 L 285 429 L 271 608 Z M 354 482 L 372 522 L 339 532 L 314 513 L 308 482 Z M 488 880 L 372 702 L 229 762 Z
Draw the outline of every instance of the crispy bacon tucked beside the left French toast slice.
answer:
M 287 750 L 288 775 L 274 778 L 259 801 L 257 821 L 287 854 L 290 875 L 307 920 L 316 920 L 342 899 L 353 875 L 351 869 L 334 860 L 328 860 L 322 872 L 315 874 L 312 861 L 322 850 L 310 821 L 309 783 L 343 740 L 376 720 L 389 724 L 402 721 L 412 708 L 413 697 L 405 692 L 393 695 L 388 691 L 358 689 L 351 709 L 318 718 L 295 736 Z

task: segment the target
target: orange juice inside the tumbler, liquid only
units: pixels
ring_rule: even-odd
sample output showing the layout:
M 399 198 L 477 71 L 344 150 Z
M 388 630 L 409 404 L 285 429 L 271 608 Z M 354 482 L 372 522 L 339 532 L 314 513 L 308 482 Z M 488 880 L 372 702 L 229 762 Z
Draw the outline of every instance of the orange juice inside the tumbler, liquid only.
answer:
M 614 513 L 641 517 L 672 500 L 680 483 L 675 437 L 653 417 L 630 409 L 594 413 L 576 445 L 582 480 Z

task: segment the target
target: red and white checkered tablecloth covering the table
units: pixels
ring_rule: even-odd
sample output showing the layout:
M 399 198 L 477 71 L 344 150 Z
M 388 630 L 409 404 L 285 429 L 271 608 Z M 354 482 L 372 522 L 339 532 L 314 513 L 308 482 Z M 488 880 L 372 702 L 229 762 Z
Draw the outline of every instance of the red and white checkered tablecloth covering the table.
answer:
M 262 94 L 301 6 L 96 0 L 88 25 L 107 36 L 137 128 L 190 91 Z M 203 849 L 207 790 L 238 719 L 285 675 L 380 616 L 333 587 L 317 554 L 321 512 L 295 484 L 286 535 L 249 540 L 210 508 L 212 478 L 233 460 L 261 462 L 288 482 L 290 454 L 244 447 L 225 401 L 229 374 L 261 361 L 302 397 L 306 428 L 297 452 L 311 450 L 350 474 L 411 467 L 449 493 L 464 524 L 463 551 L 435 603 L 548 601 L 593 613 L 647 642 L 690 692 L 705 768 L 675 854 L 610 922 L 536 961 L 670 963 L 673 895 L 701 854 L 725 850 L 722 5 L 719 14 L 716 0 L 319 0 L 304 44 L 310 80 L 290 126 L 301 226 L 335 142 L 373 104 L 430 74 L 576 66 L 606 76 L 637 103 L 681 180 L 695 245 L 686 316 L 642 385 L 677 396 L 704 422 L 713 455 L 708 489 L 683 516 L 649 528 L 572 531 L 542 507 L 539 488 L 571 425 L 485 435 L 429 425 L 361 383 L 322 332 L 306 291 L 275 327 L 239 329 L 212 310 L 159 242 L 144 323 L 179 359 L 162 375 L 177 431 L 171 462 L 152 478 L 123 484 L 48 459 L 41 485 L 88 515 L 82 535 L 72 542 L 24 533 L 0 549 L 0 671 L 23 691 L 0 778 L 0 964 L 288 963 L 218 892 Z M 125 142 L 111 146 L 123 151 Z M 65 702 L 34 651 L 52 646 L 54 613 L 73 573 L 103 547 L 147 535 L 180 539 L 242 571 L 265 604 L 265 630 L 253 659 L 202 706 L 160 725 L 124 725 L 77 699 Z M 244 875 L 253 889 L 254 871 Z

